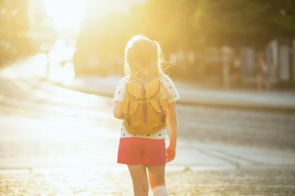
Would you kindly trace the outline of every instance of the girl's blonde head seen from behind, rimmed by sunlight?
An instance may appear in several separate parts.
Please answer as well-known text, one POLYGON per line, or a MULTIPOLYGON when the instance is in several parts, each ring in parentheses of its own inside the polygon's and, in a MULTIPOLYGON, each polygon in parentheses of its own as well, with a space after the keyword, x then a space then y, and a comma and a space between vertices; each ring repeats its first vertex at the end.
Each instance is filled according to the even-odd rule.
POLYGON ((142 35, 128 41, 125 48, 125 75, 138 81, 148 81, 162 73, 162 54, 159 44, 142 35))

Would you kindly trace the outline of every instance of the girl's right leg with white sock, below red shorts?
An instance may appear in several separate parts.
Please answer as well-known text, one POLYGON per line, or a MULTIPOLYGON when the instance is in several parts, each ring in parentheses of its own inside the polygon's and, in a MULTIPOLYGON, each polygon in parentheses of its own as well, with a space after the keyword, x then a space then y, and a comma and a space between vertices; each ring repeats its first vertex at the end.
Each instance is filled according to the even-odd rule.
POLYGON ((165 186, 165 165, 148 166, 148 179, 153 196, 168 196, 165 186))

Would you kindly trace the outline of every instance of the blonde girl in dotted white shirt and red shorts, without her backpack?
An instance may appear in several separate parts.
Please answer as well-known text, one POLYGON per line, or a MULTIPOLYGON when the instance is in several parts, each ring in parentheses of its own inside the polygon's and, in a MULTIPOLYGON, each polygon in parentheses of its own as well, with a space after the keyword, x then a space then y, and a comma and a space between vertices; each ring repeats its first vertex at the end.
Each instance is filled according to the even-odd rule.
POLYGON ((178 131, 176 101, 179 95, 172 80, 163 73, 159 44, 147 37, 137 35, 128 41, 125 48, 124 70, 126 76, 120 80, 114 97, 115 118, 125 119, 122 106, 127 82, 145 83, 159 79, 161 95, 168 103, 167 122, 170 143, 166 149, 165 139, 168 139, 166 127, 151 134, 130 134, 122 121, 118 163, 128 166, 135 196, 148 196, 148 182, 153 196, 168 196, 165 165, 175 159, 178 131))

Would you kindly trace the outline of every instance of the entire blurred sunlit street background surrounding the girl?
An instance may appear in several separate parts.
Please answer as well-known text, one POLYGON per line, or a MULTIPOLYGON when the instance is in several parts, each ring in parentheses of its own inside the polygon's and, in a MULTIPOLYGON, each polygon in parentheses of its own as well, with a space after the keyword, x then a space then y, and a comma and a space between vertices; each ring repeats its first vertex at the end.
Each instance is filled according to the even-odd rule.
POLYGON ((0 0, 0 196, 132 195, 112 99, 136 34, 180 95, 171 195, 294 196, 295 0, 0 0))

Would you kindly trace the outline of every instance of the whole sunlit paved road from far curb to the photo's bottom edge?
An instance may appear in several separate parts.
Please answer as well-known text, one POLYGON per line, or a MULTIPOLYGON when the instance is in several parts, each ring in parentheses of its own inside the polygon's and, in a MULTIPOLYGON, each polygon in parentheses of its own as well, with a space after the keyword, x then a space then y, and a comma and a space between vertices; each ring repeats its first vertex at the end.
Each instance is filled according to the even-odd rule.
MULTIPOLYGON (((2 75, 0 196, 130 195, 126 168, 116 164, 112 107, 111 98, 2 75)), ((177 110, 177 158, 167 167, 172 195, 295 194, 295 114, 177 110)))

